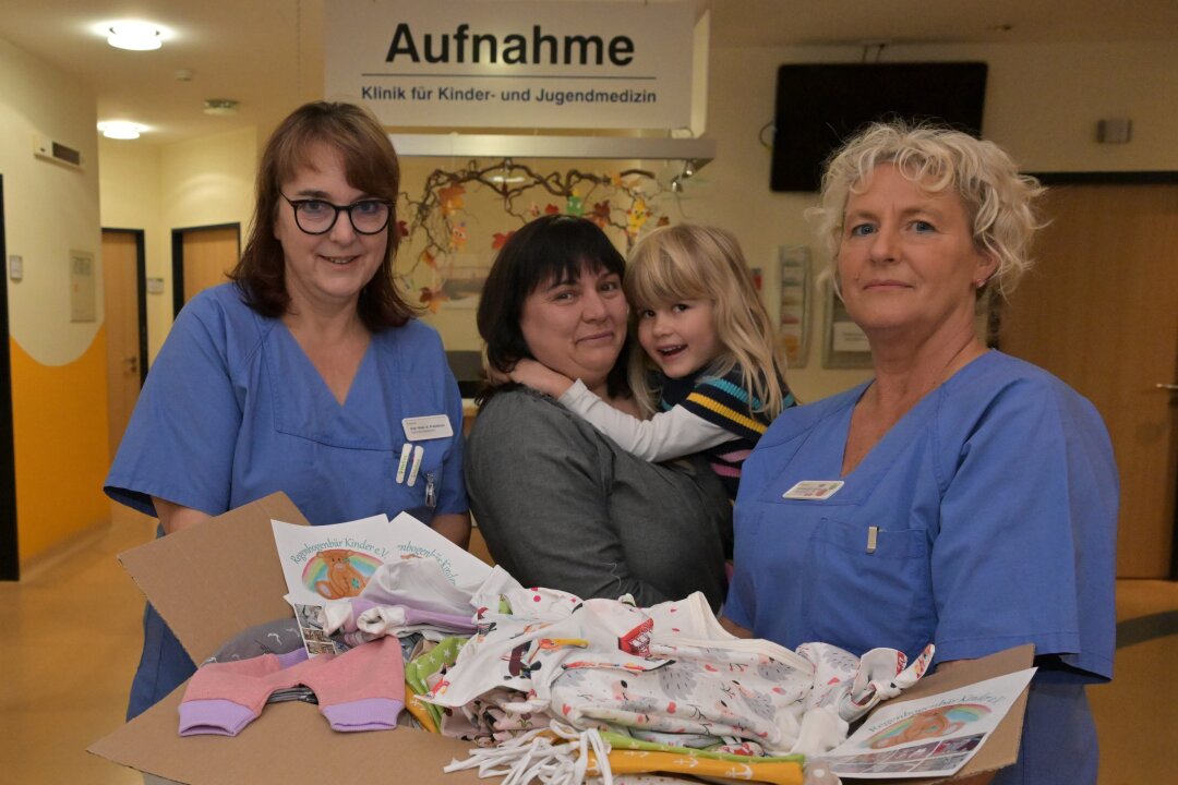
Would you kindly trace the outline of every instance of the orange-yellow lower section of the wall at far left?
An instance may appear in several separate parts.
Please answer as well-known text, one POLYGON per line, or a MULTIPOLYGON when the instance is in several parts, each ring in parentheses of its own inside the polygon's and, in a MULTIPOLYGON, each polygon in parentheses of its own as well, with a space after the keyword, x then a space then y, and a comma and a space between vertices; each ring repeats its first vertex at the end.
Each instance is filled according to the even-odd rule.
POLYGON ((106 330, 66 365, 41 365, 9 344, 16 538, 26 565, 110 521, 106 330))

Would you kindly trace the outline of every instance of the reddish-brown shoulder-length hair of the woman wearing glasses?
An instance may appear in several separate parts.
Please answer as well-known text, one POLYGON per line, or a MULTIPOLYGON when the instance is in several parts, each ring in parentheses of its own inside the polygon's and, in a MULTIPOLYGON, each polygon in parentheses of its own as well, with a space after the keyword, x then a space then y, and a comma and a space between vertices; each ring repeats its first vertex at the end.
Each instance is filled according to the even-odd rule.
POLYGON ((310 165, 317 145, 337 151, 344 162, 348 182, 370 197, 389 201, 391 214, 385 229, 388 247, 380 267, 360 290, 357 312, 371 332, 399 327, 415 310, 397 292, 392 259, 397 253, 397 193, 401 166, 392 142, 379 121, 353 104, 313 101, 294 109, 266 142, 258 165, 253 222, 241 260, 230 272, 245 304, 264 317, 276 319, 290 307, 283 246, 274 237, 284 180, 310 165))

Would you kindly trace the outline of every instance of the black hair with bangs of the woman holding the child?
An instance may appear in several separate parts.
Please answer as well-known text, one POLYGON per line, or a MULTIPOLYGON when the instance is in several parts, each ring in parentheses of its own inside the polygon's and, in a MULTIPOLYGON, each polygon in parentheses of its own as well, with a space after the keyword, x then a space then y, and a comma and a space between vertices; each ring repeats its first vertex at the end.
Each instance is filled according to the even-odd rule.
MULTIPOLYGON (((573 215, 544 215, 517 229, 495 258, 478 300, 478 334, 487 342, 487 362, 507 373, 524 358, 535 359, 524 340, 519 320, 523 304, 542 284, 577 280, 582 272, 602 270, 626 273, 626 259, 593 221, 573 215)), ((630 351, 627 335, 622 352, 607 377, 610 395, 628 395, 626 362, 630 351)), ((485 387, 485 403, 495 387, 485 387)))

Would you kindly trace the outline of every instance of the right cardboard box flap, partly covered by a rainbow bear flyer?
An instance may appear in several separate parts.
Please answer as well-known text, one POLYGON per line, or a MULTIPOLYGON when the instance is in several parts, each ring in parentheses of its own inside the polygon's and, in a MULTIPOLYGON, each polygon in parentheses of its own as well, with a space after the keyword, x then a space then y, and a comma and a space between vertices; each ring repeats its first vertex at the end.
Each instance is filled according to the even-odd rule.
MULTIPOLYGON (((1034 646, 1015 646, 1000 651, 990 657, 962 663, 958 667, 939 673, 931 673, 906 690, 902 696, 887 701, 886 706, 916 698, 928 698, 939 692, 948 692, 958 687, 965 687, 977 681, 985 681, 1007 673, 1025 671, 1034 664, 1034 646)), ((937 783, 953 781, 973 774, 994 771, 1004 766, 1010 766, 1019 759, 1019 740, 1023 738, 1023 713, 1026 711, 1027 691, 1024 690, 1018 700, 1006 712, 1006 717, 998 724, 994 732, 990 734, 986 743, 978 749, 978 752, 969 759, 961 771, 949 778, 931 779, 928 777, 911 777, 904 779, 861 779, 843 777, 843 783, 871 783, 872 785, 935 785, 937 783)))

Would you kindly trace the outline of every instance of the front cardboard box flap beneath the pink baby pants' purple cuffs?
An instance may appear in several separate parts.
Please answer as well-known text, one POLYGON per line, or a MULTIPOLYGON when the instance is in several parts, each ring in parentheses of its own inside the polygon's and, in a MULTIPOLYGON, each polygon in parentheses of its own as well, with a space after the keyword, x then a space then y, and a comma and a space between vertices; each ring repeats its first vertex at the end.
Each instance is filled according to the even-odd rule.
MULTIPOLYGON (((171 535, 168 535, 171 537, 171 535)), ((187 683, 88 752, 141 772, 193 785, 241 783, 390 781, 475 785, 475 770, 446 774, 474 745, 412 727, 339 733, 318 706, 266 705, 237 737, 179 736, 178 707, 187 683)), ((496 780, 497 781, 497 780, 496 780)))

